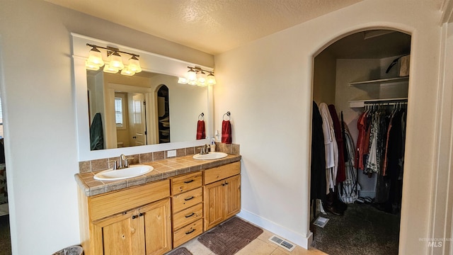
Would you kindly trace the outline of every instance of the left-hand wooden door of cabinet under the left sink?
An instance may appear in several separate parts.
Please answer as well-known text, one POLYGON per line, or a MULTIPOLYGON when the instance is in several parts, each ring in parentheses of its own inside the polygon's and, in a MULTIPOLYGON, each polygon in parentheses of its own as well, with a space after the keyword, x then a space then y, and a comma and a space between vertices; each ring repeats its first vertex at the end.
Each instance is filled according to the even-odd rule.
POLYGON ((93 238, 98 240, 95 254, 144 254, 144 249, 139 245, 143 242, 143 227, 137 210, 94 222, 93 227, 96 235, 93 238))

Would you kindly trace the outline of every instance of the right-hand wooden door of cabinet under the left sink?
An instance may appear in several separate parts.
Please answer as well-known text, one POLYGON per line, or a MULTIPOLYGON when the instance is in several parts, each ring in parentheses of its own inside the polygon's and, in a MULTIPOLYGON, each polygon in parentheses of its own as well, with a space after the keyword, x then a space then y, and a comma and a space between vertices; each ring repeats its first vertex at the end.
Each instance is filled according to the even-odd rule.
POLYGON ((140 254, 165 254, 171 250, 170 198, 139 208, 144 224, 144 249, 140 254))

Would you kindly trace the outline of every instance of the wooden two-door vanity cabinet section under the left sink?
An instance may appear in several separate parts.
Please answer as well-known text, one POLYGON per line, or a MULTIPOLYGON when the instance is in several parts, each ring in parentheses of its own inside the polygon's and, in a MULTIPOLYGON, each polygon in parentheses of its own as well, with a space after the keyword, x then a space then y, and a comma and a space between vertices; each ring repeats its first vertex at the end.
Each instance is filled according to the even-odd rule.
POLYGON ((164 254, 171 246, 168 180, 86 197, 79 191, 86 255, 164 254))

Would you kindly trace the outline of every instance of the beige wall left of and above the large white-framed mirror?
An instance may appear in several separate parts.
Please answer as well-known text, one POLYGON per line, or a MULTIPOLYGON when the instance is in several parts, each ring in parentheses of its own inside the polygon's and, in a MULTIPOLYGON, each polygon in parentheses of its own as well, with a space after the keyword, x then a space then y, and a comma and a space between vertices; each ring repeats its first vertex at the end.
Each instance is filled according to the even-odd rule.
POLYGON ((205 66, 214 62, 204 52, 45 1, 1 1, 0 89, 13 254, 52 254, 80 242, 71 32, 205 66))

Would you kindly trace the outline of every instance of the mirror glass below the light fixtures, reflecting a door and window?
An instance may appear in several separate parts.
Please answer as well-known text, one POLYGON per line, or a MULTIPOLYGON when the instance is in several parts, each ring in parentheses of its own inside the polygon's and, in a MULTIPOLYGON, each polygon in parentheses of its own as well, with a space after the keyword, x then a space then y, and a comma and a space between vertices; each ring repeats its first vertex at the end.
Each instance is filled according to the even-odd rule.
POLYGON ((91 133, 98 135, 91 135, 91 150, 195 140, 207 113, 207 87, 178 84, 178 77, 100 69, 86 78, 91 133))

